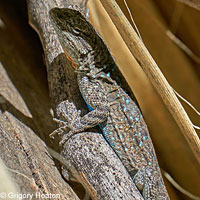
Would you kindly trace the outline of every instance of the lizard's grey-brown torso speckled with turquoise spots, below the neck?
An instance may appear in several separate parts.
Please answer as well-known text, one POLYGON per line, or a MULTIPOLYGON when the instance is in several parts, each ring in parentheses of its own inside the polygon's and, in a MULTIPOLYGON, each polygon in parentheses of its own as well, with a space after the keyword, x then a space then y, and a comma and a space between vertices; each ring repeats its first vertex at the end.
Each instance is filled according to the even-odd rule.
MULTIPOLYGON (((123 162, 145 200, 169 199, 138 106, 109 74, 101 71, 98 77, 93 78, 89 73, 78 74, 80 91, 92 110, 84 116, 88 120, 86 126, 89 127, 90 121, 93 124, 96 119, 97 124, 101 121, 99 126, 104 137, 123 162), (104 111, 105 115, 101 113, 98 118, 98 110, 104 111), (95 114, 91 115, 94 111, 95 114)), ((84 120, 84 123, 87 122, 84 120)))

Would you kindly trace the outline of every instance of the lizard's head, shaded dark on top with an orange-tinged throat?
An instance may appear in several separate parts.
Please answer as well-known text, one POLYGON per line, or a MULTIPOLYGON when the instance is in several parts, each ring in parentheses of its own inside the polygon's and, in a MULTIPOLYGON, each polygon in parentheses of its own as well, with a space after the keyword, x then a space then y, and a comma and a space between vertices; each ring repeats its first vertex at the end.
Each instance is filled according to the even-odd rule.
POLYGON ((65 54, 80 66, 92 50, 92 25, 79 11, 69 8, 53 8, 49 15, 65 54))

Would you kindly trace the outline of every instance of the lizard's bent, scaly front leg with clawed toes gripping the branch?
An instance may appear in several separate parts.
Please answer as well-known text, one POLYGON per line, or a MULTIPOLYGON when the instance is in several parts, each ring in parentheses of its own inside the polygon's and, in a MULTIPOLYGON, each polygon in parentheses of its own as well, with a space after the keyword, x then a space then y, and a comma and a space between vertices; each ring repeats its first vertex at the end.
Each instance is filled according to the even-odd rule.
POLYGON ((77 117, 73 120, 73 125, 69 126, 63 122, 61 123, 63 124, 63 126, 60 127, 62 132, 65 130, 68 131, 69 128, 71 128, 71 130, 63 136, 60 145, 65 143, 75 133, 83 132, 88 128, 104 122, 109 114, 109 104, 107 102, 107 93, 104 91, 104 86, 92 82, 89 77, 82 73, 78 73, 78 83, 81 94, 91 112, 83 117, 77 117))

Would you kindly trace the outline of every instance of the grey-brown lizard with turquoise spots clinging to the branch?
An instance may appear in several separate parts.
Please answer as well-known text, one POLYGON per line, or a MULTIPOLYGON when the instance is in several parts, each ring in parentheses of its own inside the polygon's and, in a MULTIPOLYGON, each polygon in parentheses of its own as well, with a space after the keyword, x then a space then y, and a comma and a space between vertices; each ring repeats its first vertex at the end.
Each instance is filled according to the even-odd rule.
POLYGON ((90 110, 73 127, 54 119, 63 126, 50 136, 70 128, 60 142, 63 144, 73 134, 99 125, 143 198, 168 200, 147 125, 133 98, 114 76, 118 67, 103 39, 78 9, 53 8, 49 15, 90 110))

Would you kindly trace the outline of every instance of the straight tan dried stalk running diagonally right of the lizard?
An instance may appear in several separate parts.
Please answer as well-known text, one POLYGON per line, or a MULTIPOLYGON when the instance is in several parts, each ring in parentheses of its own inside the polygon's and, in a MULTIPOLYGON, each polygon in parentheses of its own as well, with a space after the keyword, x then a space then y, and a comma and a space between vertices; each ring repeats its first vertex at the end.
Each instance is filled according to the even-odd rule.
POLYGON ((194 155, 196 156, 196 159, 200 163, 200 142, 198 135, 195 132, 187 113, 174 94, 173 89, 116 2, 112 0, 101 0, 101 3, 117 27, 130 52, 138 61, 174 117, 194 155))

